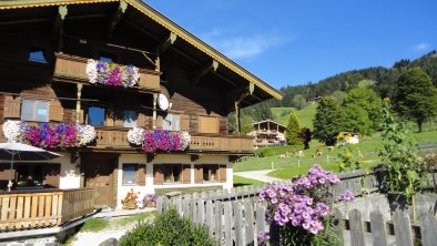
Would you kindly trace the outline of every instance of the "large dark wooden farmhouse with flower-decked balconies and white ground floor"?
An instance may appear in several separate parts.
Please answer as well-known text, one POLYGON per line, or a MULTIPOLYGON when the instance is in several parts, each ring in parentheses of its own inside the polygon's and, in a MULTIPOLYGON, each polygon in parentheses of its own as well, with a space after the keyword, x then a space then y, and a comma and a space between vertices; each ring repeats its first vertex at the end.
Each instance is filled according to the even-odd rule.
POLYGON ((120 208, 131 189, 231 188, 253 137, 226 115, 282 99, 140 0, 1 1, 0 54, 1 142, 62 155, 1 161, 0 230, 120 208))

